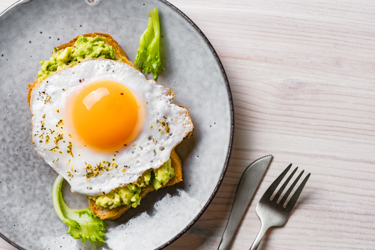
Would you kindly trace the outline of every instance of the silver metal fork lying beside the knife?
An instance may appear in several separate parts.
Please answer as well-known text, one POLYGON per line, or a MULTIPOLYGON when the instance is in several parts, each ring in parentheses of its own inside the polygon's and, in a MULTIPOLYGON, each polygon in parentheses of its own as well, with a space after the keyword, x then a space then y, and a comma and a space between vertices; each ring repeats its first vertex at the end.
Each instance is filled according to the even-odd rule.
POLYGON ((257 235, 257 237, 254 240, 254 243, 251 245, 250 250, 256 250, 258 249, 264 234, 266 233, 267 229, 273 226, 282 226, 287 222, 288 217, 290 215, 290 212, 292 211, 294 205, 297 202, 298 197, 300 196, 303 187, 305 187, 305 184, 307 180, 310 177, 310 173, 305 177, 305 179, 302 181, 300 186, 297 188, 296 192, 294 192, 292 198, 288 201, 287 205, 284 207, 285 201, 287 201, 288 196, 292 192, 294 186, 296 186, 297 182, 301 178, 303 172, 305 170, 302 170, 302 172, 298 175, 297 179, 293 182, 293 184, 290 186, 288 191, 285 193, 285 195, 282 197, 281 201, 277 203, 281 193, 284 191, 285 187, 288 185, 289 181, 293 177, 293 175, 296 173, 298 167, 293 170, 293 172, 289 175, 288 179, 282 184, 279 191, 276 193, 275 197, 271 200, 271 196, 273 192, 275 192, 278 185, 281 183, 282 179, 285 177, 289 169, 292 167, 292 164, 290 164, 282 173, 279 175, 278 178, 271 184, 271 186, 266 190, 260 201, 258 202, 257 207, 255 208, 255 212, 257 212, 257 215, 261 221, 261 229, 257 235))

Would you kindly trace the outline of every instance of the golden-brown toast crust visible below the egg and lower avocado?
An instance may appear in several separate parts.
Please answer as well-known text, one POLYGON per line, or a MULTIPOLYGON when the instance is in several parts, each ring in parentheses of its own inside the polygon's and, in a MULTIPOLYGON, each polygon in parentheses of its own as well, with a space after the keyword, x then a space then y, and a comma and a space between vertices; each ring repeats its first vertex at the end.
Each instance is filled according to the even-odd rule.
MULTIPOLYGON (((182 168, 181 168, 181 160, 174 151, 174 149, 171 151, 171 165, 174 169, 175 176, 169 180, 165 185, 162 185, 162 187, 171 186, 173 184, 176 184, 180 181, 182 181, 182 168)), ((148 192, 154 191, 154 187, 150 183, 145 187, 144 190, 139 194, 142 198, 144 198, 148 192)), ((131 206, 122 205, 115 208, 104 208, 104 207, 98 207, 95 204, 95 201, 93 199, 89 199, 89 205, 91 208, 91 211, 93 211, 93 214, 98 216, 100 219, 104 220, 114 220, 120 217, 123 213, 125 213, 131 206)))

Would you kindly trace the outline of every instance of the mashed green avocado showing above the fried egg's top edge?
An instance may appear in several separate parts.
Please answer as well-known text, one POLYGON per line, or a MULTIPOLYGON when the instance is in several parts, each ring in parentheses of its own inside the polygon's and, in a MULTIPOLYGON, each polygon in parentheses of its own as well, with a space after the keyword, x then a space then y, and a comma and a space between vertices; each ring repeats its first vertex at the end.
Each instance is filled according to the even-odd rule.
POLYGON ((62 67, 90 57, 102 57, 122 61, 121 58, 115 55, 115 50, 112 46, 105 44, 105 42, 107 42, 107 38, 102 36, 79 36, 74 43, 74 47, 67 47, 60 50, 57 50, 55 47, 48 61, 39 62, 41 67, 38 71, 38 76, 44 78, 62 67))

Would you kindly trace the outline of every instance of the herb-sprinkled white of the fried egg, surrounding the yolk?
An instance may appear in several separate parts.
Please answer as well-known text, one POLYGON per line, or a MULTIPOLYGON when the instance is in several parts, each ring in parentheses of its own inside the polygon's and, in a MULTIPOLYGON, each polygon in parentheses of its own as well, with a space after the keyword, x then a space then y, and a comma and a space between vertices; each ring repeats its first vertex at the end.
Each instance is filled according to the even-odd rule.
MULTIPOLYGON (((72 192, 90 196, 108 193, 116 187, 137 181, 148 169, 159 168, 169 159, 172 149, 193 130, 189 112, 171 104, 173 97, 171 89, 147 80, 126 63, 102 58, 83 60, 52 73, 32 89, 33 146, 46 163, 69 182, 72 192), (78 135, 72 122, 75 98, 84 87, 100 80, 123 84, 139 103, 138 112, 144 119, 137 123, 140 130, 126 147, 90 147, 78 135), (166 125, 160 122, 168 123, 169 133, 165 131, 166 125), (55 140, 59 134, 63 139, 58 141, 56 148, 55 140), (68 152, 69 142, 72 144, 71 153, 68 152), (99 171, 96 177, 87 181, 86 164, 95 168, 102 161, 110 162, 111 166, 115 163, 117 168, 99 171)), ((115 123, 116 118, 103 120, 103 126, 108 122, 115 123)))

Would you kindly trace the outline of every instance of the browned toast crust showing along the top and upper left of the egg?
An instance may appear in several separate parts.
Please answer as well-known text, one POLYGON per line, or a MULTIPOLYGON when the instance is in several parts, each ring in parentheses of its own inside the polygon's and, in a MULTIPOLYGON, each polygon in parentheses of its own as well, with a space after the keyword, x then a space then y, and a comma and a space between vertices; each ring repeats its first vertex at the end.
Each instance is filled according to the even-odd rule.
MULTIPOLYGON (((134 63, 132 63, 131 61, 129 61, 127 59, 125 51, 123 51, 123 49, 121 49, 121 47, 118 46, 118 43, 109 34, 105 34, 105 33, 89 33, 89 34, 84 34, 82 36, 84 36, 84 37, 96 37, 96 36, 106 37, 107 38, 107 42, 105 42, 105 43, 108 44, 108 45, 111 45, 114 48, 115 54, 117 55, 117 57, 120 57, 124 61, 124 63, 129 64, 130 66, 132 66, 136 70, 139 70, 137 67, 134 66, 134 63)), ((77 42, 78 37, 79 36, 77 36, 76 38, 74 38, 73 40, 71 40, 68 43, 62 44, 61 46, 57 47, 57 49, 60 50, 60 49, 65 49, 66 47, 72 47, 72 46, 74 46, 74 43, 77 42)), ((32 85, 28 84, 27 103, 28 103, 29 106, 30 106, 30 94, 31 94, 31 90, 33 89, 33 87, 35 86, 35 84, 38 82, 38 78, 39 77, 36 78, 36 80, 34 81, 34 83, 32 85)))

